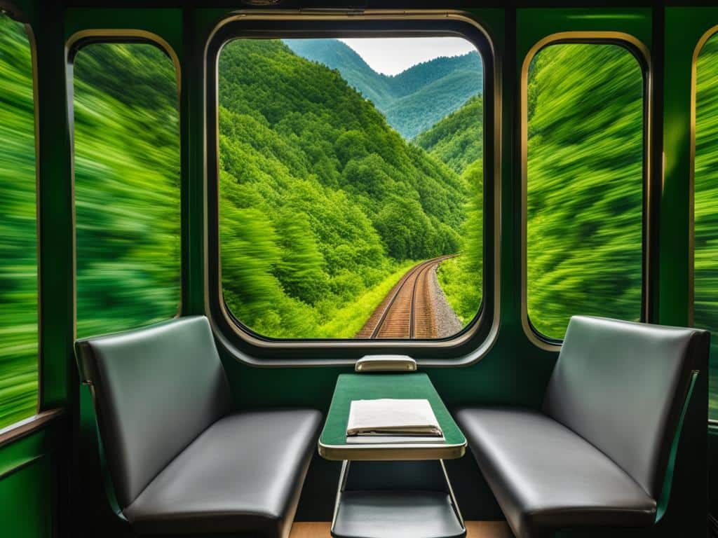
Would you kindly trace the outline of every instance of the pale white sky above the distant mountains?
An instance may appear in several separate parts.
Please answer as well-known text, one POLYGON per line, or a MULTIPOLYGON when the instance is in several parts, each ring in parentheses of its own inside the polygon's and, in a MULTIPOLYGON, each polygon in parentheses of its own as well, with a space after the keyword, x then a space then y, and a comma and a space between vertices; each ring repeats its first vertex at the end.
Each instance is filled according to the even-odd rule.
POLYGON ((461 37, 365 37, 340 39, 369 66, 384 75, 397 75, 412 65, 439 56, 460 56, 476 48, 461 37))

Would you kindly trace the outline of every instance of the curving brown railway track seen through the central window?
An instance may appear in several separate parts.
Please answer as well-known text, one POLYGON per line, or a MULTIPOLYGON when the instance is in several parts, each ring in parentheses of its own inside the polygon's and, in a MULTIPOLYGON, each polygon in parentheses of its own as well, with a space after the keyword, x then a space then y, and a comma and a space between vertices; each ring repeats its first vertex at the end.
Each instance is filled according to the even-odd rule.
POLYGON ((455 255, 439 256, 414 265, 391 288, 357 333, 360 339, 435 338, 432 270, 455 255))

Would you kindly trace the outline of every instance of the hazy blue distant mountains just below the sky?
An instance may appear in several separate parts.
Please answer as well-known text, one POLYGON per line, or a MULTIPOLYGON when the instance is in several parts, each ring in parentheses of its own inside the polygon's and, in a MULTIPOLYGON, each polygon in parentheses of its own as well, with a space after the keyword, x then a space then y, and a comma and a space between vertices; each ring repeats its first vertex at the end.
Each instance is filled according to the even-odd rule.
POLYGON ((374 71, 338 39, 285 39, 284 43, 307 60, 339 70, 349 85, 370 99, 389 125, 407 139, 482 92, 478 52, 434 58, 389 76, 374 71))

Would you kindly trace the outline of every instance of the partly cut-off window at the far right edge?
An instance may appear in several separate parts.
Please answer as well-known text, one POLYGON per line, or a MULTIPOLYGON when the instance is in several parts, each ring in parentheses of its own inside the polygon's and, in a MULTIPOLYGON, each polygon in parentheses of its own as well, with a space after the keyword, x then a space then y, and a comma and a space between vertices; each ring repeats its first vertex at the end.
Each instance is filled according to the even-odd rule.
POLYGON ((712 331, 709 418, 718 419, 718 37, 696 65, 694 324, 712 331))

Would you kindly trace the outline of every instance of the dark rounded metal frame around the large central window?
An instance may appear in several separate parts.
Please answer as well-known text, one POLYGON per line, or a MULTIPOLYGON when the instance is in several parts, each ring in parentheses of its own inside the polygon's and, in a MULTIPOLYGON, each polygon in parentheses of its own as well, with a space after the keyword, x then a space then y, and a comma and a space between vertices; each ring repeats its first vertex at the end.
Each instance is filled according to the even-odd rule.
POLYGON ((421 365, 472 364, 493 346, 498 333, 498 195, 500 98, 496 55, 485 27, 462 11, 348 12, 240 11, 218 23, 205 47, 205 309, 223 348, 238 361, 261 366, 354 364, 367 354, 411 354, 421 365), (234 39, 280 37, 452 36, 472 43, 484 67, 484 271, 482 305, 459 334, 448 339, 272 339, 237 320, 223 298, 219 245, 218 64, 234 39), (400 351, 401 350, 401 351, 400 351), (337 354, 337 351, 340 351, 337 354), (337 359, 337 355, 342 357, 337 359))

